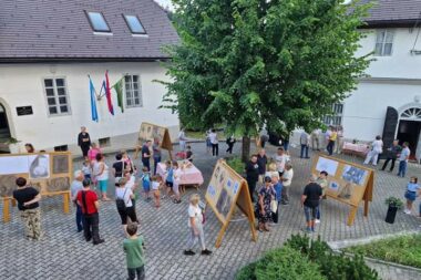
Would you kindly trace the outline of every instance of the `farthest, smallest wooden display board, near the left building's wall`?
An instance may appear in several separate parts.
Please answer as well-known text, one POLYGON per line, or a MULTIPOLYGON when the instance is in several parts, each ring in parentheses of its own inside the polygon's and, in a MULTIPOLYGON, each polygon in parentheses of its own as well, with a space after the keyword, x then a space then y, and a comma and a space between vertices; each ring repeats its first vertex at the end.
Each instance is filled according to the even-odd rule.
POLYGON ((171 142, 168 128, 151 123, 141 124, 136 143, 135 158, 137 157, 138 151, 142 148, 142 145, 146 141, 154 142, 154 139, 156 138, 160 139, 161 147, 163 149, 168 151, 170 158, 173 159, 173 155, 171 153, 171 151, 173 151, 173 143, 171 142))

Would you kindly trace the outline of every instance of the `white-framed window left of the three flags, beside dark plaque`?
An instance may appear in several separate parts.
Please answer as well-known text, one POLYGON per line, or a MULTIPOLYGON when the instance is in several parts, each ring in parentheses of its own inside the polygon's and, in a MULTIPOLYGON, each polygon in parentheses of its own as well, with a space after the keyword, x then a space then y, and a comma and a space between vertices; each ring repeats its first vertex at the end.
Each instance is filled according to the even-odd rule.
POLYGON ((64 77, 44 79, 49 115, 69 115, 70 102, 64 77))

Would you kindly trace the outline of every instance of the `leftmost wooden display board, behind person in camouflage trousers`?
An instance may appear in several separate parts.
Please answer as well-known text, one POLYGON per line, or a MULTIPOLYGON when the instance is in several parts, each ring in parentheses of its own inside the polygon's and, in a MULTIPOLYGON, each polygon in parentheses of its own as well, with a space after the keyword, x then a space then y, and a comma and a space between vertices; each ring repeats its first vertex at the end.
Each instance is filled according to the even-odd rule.
POLYGON ((0 155, 0 197, 3 220, 9 221, 9 200, 17 188, 16 179, 24 177, 43 196, 63 195, 64 212, 69 211, 72 157, 69 152, 0 155))

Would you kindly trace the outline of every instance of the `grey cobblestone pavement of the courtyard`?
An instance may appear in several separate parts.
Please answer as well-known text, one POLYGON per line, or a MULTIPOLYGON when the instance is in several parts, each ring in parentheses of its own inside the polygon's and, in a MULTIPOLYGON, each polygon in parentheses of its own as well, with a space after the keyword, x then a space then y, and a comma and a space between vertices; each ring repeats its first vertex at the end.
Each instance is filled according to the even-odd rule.
MULTIPOLYGON (((225 144, 220 143, 220 151, 224 151, 224 147, 225 144)), ((235 147, 237 154, 239 148, 240 144, 237 144, 235 147)), ((274 154, 276 151, 271 146, 267 149, 268 154, 274 154)), ((216 158, 206 154, 203 143, 193 144, 193 151, 194 163, 205 177, 205 184, 201 189, 204 194, 216 158)), ((291 204, 281 207, 280 225, 274 227, 270 232, 259 234, 257 242, 250 240, 248 225, 245 220, 240 220, 228 226, 222 247, 215 249, 214 243, 220 224, 208 211, 205 234, 208 247, 214 253, 208 257, 199 255, 186 257, 182 252, 187 239, 187 196, 195 190, 188 189, 181 205, 164 199, 158 210, 153 208, 152 203, 137 200, 136 209, 147 247, 147 279, 233 279, 242 266, 256 260, 268 249, 281 246, 290 235, 300 232, 305 217, 299 197, 308 179, 311 160, 297 158, 297 151, 292 151, 291 154, 295 169, 291 204)), ((224 152, 222 156, 225 156, 224 152)), ((348 156, 346 158, 361 163, 359 158, 348 156)), ((107 156, 110 164, 112 159, 112 155, 107 156)), ((79 160, 74 162, 74 167, 80 167, 79 160)), ((419 173, 419 166, 409 168, 409 175, 419 173)), ((370 204, 369 217, 362 216, 361 206, 352 227, 346 226, 349 210, 347 206, 325 200, 321 206, 322 221, 317 228, 317 234, 324 240, 342 240, 418 229, 421 219, 403 212, 398 214, 394 225, 384 222, 387 211, 384 198, 390 195, 402 197, 405 183, 407 179, 398 178, 394 174, 377 172, 374 198, 370 204)), ((110 183, 110 196, 114 191, 110 183)), ((114 203, 101 205, 100 232, 105 238, 105 243, 100 246, 86 243, 82 235, 76 232, 74 209, 71 215, 64 215, 61 198, 44 198, 41 208, 42 226, 47 234, 42 241, 23 239, 17 208, 12 210, 11 222, 0 224, 0 279, 126 278, 125 257, 122 250, 123 232, 114 203)), ((383 277, 388 276, 386 279, 420 279, 411 274, 393 274, 386 270, 383 272, 383 277)))

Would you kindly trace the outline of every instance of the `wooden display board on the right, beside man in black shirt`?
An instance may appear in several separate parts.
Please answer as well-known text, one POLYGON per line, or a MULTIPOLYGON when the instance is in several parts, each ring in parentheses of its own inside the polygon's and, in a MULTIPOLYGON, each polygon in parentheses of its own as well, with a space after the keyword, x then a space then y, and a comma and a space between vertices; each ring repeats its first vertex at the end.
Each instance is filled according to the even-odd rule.
POLYGON ((369 201, 372 201, 373 170, 338 158, 318 155, 312 163, 311 173, 319 175, 322 170, 328 173, 326 196, 351 206, 348 226, 353 224, 358 206, 362 200, 364 201, 364 216, 367 217, 369 201))

